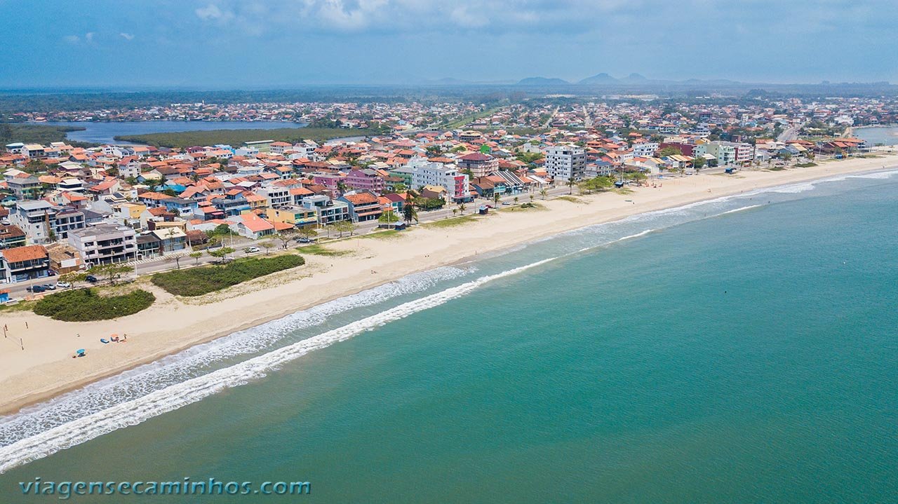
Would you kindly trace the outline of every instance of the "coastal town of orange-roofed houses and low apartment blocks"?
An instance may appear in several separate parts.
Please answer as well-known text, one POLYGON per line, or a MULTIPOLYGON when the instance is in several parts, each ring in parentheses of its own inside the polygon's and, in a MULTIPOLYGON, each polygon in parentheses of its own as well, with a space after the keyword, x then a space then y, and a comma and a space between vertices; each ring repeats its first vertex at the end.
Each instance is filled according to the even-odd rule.
POLYGON ((279 120, 326 123, 348 135, 377 126, 384 134, 291 143, 256 130, 258 140, 186 148, 6 143, 0 300, 83 280, 73 274, 96 282, 91 272, 104 265, 158 272, 180 268, 185 256, 196 265, 231 260, 271 248, 272 239, 286 248, 288 239, 401 230, 575 189, 863 156, 876 146, 852 137, 850 128, 894 117, 879 100, 662 106, 645 97, 492 108, 198 103, 22 112, 12 118, 279 120), (450 122, 457 127, 446 128, 450 122))

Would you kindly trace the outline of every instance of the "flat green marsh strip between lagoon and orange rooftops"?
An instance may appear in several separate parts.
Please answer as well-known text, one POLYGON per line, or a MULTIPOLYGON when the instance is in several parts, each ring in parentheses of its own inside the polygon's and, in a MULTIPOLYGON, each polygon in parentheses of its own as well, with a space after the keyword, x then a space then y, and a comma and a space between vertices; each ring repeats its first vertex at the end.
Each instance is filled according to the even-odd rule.
POLYGON ((175 133, 148 133, 145 135, 121 135, 116 140, 146 143, 156 147, 189 147, 192 145, 239 146, 255 140, 275 140, 277 142, 299 142, 314 140, 324 142, 343 136, 380 135, 374 129, 343 129, 337 127, 284 127, 277 129, 214 129, 209 131, 183 131, 175 133))

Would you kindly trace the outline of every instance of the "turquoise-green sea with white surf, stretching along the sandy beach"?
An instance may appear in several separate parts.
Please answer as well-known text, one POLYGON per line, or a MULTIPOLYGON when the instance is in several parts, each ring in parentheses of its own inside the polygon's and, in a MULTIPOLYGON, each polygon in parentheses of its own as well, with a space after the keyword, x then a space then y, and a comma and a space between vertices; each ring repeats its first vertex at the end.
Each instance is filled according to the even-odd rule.
POLYGON ((0 499, 55 500, 22 497, 38 476, 313 484, 81 502, 898 499, 898 176, 643 215, 369 294, 4 419, 0 464, 36 460, 0 499))

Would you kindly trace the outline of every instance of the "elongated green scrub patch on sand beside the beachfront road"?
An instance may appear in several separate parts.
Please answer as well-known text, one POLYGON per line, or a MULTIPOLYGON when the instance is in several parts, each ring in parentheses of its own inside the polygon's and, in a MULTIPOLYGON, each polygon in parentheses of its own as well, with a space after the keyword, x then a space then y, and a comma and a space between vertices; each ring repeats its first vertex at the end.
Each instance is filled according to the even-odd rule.
POLYGON ((301 256, 243 257, 225 265, 199 266, 154 274, 152 282, 177 296, 202 296, 260 276, 305 264, 301 256))

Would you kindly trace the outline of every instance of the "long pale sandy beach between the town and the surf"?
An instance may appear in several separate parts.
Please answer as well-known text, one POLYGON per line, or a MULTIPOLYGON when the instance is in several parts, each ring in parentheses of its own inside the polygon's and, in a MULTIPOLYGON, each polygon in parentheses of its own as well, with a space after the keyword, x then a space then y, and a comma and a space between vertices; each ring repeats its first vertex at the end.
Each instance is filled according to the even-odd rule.
MULTIPOLYGON (((11 337, 0 347, 0 412, 13 413, 191 345, 471 256, 635 213, 894 164, 892 157, 882 157, 823 162, 804 169, 745 170, 734 176, 665 178, 663 187, 634 187, 626 196, 577 196, 581 201, 576 203, 541 201, 536 196, 534 201, 544 209, 497 212, 453 227, 418 226, 389 239, 342 240, 327 247, 347 251, 346 255, 305 256, 307 264, 300 268, 198 299, 181 300, 145 287, 154 291, 157 300, 153 307, 130 317, 67 323, 28 312, 4 312, 0 323, 11 337), (113 333, 127 334, 128 343, 100 342, 113 333), (86 349, 87 357, 73 359, 79 348, 86 349)), ((523 196, 521 201, 529 198, 523 196)))

